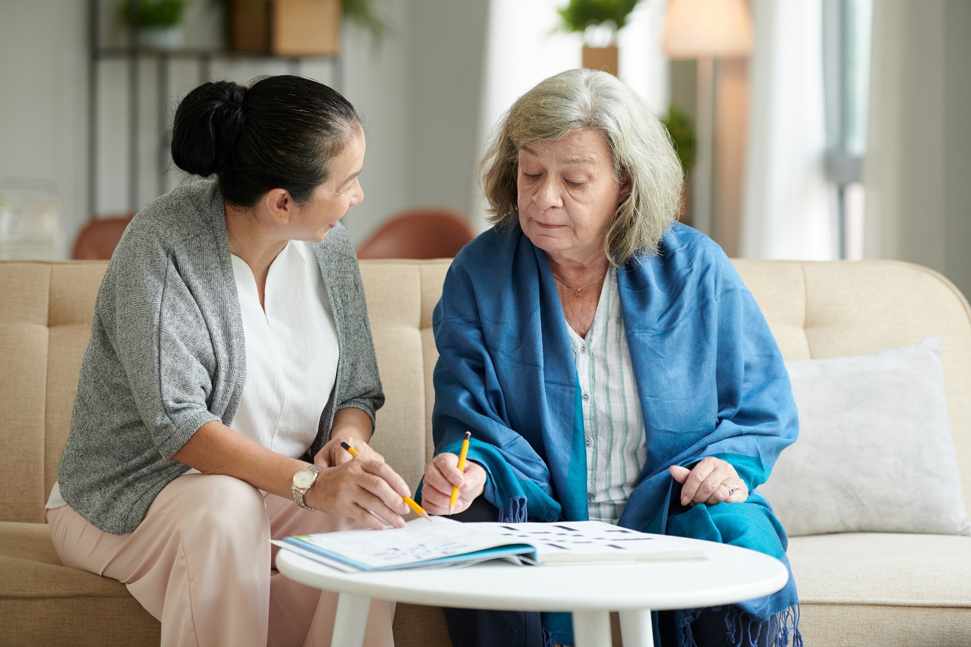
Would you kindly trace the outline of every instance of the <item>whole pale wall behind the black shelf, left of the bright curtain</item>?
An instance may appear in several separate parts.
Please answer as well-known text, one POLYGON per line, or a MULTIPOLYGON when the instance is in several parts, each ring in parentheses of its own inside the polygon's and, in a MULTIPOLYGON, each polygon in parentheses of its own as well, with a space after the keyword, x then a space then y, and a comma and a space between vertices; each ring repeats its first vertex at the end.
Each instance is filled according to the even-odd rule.
MULTIPOLYGON (((103 42, 123 44, 117 2, 103 0, 103 42)), ((364 202, 345 217, 361 241, 388 215, 414 206, 468 209, 478 157, 486 2, 388 0, 394 33, 383 47, 345 28, 342 92, 363 115, 368 151, 361 183, 364 202)), ((221 42, 215 3, 190 6, 186 47, 221 42)), ((88 217, 87 13, 81 0, 0 0, 0 178, 46 178, 61 200, 66 256, 88 217)), ((123 60, 99 64, 97 214, 129 210, 127 75, 123 60)), ((212 79, 249 81, 290 71, 281 61, 215 59, 212 79)), ((333 83, 327 60, 305 60, 298 73, 333 83)), ((139 193, 142 205, 158 194, 159 95, 157 66, 139 68, 139 193)), ((199 66, 173 61, 164 110, 201 81, 199 66)), ((168 187, 181 181, 172 167, 168 187)))

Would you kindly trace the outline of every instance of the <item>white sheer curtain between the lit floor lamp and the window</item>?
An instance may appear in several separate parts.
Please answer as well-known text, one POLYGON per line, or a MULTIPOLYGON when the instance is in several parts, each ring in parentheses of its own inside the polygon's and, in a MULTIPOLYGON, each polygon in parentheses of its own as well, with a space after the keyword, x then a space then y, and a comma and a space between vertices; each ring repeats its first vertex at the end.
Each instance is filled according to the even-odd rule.
POLYGON ((752 10, 740 255, 832 259, 820 0, 753 0, 752 10))

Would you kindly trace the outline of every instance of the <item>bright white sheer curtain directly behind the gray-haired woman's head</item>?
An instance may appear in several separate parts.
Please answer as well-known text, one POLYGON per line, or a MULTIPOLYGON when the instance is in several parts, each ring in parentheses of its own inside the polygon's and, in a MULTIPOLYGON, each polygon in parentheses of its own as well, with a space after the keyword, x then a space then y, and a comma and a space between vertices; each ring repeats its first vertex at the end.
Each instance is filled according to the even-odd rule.
MULTIPOLYGON (((583 38, 556 30, 564 0, 490 0, 485 37, 483 105, 479 151, 503 113, 519 96, 547 77, 580 67, 583 38)), ((654 113, 667 112, 667 60, 660 49, 667 0, 641 2, 619 32, 620 79, 641 93, 654 113)), ((477 161, 478 159, 477 158, 477 161)), ((478 189, 469 212, 485 230, 485 202, 478 189)))

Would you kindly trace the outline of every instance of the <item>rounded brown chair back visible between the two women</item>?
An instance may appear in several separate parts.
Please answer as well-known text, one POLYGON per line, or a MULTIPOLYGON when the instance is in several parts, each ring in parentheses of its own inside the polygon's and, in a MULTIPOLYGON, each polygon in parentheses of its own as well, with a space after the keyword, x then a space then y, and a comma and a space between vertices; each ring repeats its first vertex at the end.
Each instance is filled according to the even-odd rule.
POLYGON ((452 258, 475 238, 468 219, 447 209, 413 209, 385 220, 357 258, 452 258))

